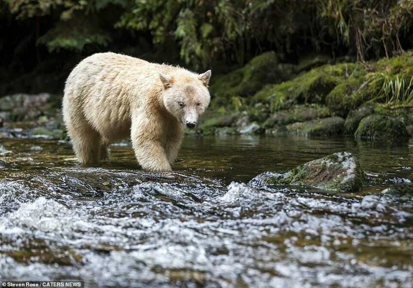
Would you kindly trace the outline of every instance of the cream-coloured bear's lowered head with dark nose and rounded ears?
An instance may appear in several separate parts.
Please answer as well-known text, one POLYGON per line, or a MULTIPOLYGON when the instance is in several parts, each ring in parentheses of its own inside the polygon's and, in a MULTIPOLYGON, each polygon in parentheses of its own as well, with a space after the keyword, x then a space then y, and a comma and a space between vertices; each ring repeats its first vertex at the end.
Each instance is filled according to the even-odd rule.
POLYGON ((184 70, 173 75, 159 73, 165 108, 185 127, 195 127, 198 116, 208 107, 210 77, 210 70, 199 75, 184 70))

